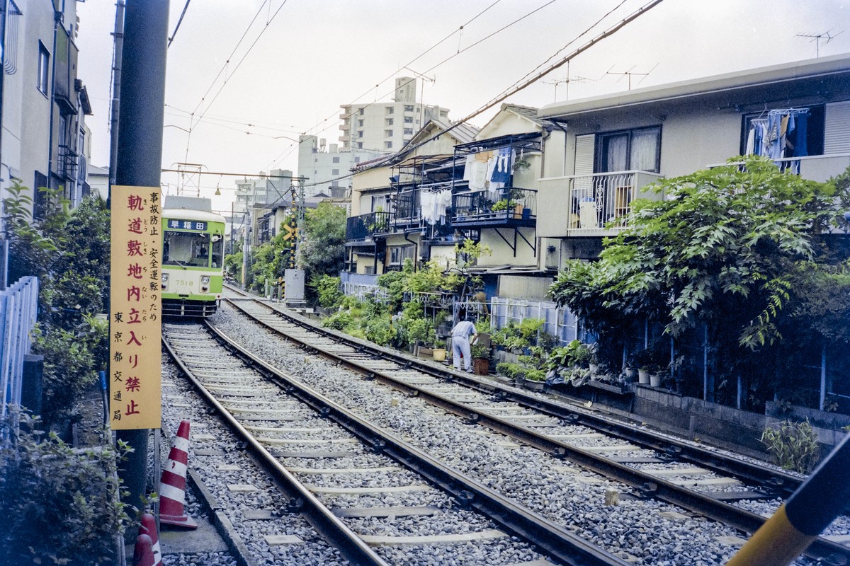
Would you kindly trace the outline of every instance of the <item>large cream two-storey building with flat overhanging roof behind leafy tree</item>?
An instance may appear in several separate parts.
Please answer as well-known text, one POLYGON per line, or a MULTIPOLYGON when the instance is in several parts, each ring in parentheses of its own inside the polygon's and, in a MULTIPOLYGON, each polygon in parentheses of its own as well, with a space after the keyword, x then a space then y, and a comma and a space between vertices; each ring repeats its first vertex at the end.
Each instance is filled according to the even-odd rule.
POLYGON ((563 159, 549 161, 540 179, 537 233, 558 240, 558 263, 591 259, 602 238, 627 226, 634 199, 663 198, 646 190, 661 178, 751 153, 813 181, 842 173, 850 165, 850 57, 549 104, 538 117, 565 135, 546 143, 547 155, 563 159), (774 132, 783 122, 787 130, 774 132))

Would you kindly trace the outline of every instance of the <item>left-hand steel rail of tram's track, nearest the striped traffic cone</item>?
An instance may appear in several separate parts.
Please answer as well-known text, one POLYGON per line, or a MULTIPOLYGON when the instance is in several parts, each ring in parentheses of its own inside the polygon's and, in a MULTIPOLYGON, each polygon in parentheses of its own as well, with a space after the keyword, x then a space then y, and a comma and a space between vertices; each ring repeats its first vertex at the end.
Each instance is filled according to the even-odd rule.
POLYGON ((349 529, 336 515, 321 504, 303 484, 292 475, 289 470, 284 468, 280 462, 266 450, 265 446, 260 444, 253 435, 248 432, 245 427, 231 415, 228 410, 210 394, 206 387, 201 384, 198 378, 191 372, 189 367, 186 367, 184 362, 179 358, 172 346, 168 343, 165 336, 162 337, 162 344, 165 346, 168 355, 177 365, 182 373, 195 386, 195 389, 207 401, 207 405, 211 406, 218 416, 232 429, 235 434, 243 440, 247 446, 250 446, 252 451, 260 458, 263 465, 269 468, 275 477, 283 484, 287 495, 290 496, 290 504, 287 509, 292 513, 302 513, 309 524, 312 524, 314 529, 319 531, 326 538, 326 541, 335 546, 343 557, 354 564, 374 565, 374 566, 389 566, 389 564, 377 552, 373 551, 359 536, 349 529))

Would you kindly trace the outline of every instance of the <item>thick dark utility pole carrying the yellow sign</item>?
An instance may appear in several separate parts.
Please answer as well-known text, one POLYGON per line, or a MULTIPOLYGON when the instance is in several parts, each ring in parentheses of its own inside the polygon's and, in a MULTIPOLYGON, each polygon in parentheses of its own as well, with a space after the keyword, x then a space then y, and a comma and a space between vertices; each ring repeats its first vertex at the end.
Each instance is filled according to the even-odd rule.
MULTIPOLYGON (((168 0, 127 0, 116 185, 160 187, 167 27, 168 0)), ((149 433, 116 431, 117 439, 133 448, 118 474, 127 488, 125 502, 135 507, 141 507, 144 496, 149 433)))

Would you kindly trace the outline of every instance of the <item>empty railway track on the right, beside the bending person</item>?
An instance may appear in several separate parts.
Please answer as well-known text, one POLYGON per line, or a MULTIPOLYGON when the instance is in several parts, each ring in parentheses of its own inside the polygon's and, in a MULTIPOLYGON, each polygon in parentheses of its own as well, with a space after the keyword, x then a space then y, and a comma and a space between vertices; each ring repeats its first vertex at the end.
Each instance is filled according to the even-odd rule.
MULTIPOLYGON (((344 364, 365 379, 376 380, 373 383, 390 384, 405 398, 428 401, 466 423, 474 423, 477 429, 484 425, 509 434, 558 458, 562 468, 599 474, 604 481, 615 480, 615 490, 623 498, 675 506, 677 511, 672 513, 677 513, 677 520, 702 516, 752 532, 764 518, 746 510, 751 507, 749 502, 768 498, 775 507, 800 482, 790 474, 587 414, 543 395, 471 378, 314 328, 301 317, 274 312, 262 303, 231 302, 252 311, 256 320, 276 327, 276 332, 285 333, 287 339, 309 352, 344 364), (564 466, 564 461, 569 465, 564 466)), ((847 534, 842 528, 836 527, 837 541, 847 534)), ((817 541, 809 552, 815 558, 847 557, 846 546, 827 539, 817 541)))

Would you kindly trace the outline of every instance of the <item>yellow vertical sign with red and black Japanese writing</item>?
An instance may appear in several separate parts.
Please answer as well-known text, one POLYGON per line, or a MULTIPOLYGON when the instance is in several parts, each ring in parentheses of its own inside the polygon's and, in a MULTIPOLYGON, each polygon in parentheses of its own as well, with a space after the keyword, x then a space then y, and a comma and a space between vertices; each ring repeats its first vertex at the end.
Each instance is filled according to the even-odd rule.
POLYGON ((112 429, 161 425, 161 189, 111 189, 112 429))

